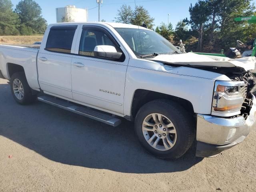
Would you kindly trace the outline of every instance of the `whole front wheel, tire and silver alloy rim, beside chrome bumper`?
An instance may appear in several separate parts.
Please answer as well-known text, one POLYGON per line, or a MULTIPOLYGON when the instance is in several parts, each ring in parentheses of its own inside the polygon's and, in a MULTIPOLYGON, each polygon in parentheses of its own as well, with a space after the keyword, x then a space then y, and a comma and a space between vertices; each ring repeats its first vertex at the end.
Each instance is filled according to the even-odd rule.
POLYGON ((154 100, 138 111, 135 131, 150 154, 176 159, 192 145, 195 128, 192 118, 180 105, 171 100, 154 100))

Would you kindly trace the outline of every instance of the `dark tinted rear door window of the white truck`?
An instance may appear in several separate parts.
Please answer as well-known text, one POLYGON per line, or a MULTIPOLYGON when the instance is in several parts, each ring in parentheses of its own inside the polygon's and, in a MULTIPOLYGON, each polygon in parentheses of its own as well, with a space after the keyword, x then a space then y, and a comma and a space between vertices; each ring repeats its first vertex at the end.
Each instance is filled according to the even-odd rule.
POLYGON ((72 42, 77 26, 53 26, 48 34, 46 50, 71 53, 72 42))

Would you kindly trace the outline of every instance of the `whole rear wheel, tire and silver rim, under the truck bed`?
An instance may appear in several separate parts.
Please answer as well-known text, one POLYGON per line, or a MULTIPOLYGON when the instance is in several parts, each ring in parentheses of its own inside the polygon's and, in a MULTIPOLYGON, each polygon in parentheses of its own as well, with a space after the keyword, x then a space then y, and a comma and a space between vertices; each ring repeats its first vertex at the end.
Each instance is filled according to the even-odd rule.
POLYGON ((18 104, 31 104, 36 100, 36 96, 32 94, 24 72, 14 73, 10 84, 12 96, 18 104))

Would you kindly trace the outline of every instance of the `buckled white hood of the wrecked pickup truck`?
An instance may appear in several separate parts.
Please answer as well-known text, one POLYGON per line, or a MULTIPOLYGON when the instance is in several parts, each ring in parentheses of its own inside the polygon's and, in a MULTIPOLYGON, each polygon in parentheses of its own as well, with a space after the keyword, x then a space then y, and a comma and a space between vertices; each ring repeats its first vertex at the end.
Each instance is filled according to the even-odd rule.
POLYGON ((192 52, 184 54, 158 55, 149 60, 162 62, 166 64, 177 64, 182 66, 213 66, 213 67, 238 67, 244 71, 255 68, 255 57, 244 57, 239 59, 230 59, 219 56, 199 55, 192 52))

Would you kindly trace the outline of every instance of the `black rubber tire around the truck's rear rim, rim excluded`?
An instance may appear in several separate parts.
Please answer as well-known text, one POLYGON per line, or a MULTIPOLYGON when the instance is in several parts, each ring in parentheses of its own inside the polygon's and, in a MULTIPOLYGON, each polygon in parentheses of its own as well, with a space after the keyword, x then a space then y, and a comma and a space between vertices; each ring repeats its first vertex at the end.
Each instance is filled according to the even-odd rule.
POLYGON ((36 100, 36 95, 32 94, 32 90, 31 90, 30 86, 28 85, 28 82, 27 82, 24 72, 14 73, 10 80, 10 85, 11 85, 12 96, 18 104, 21 104, 21 105, 32 104, 36 100), (14 94, 13 82, 15 79, 18 79, 22 83, 23 90, 24 90, 24 96, 22 99, 18 99, 14 94))

